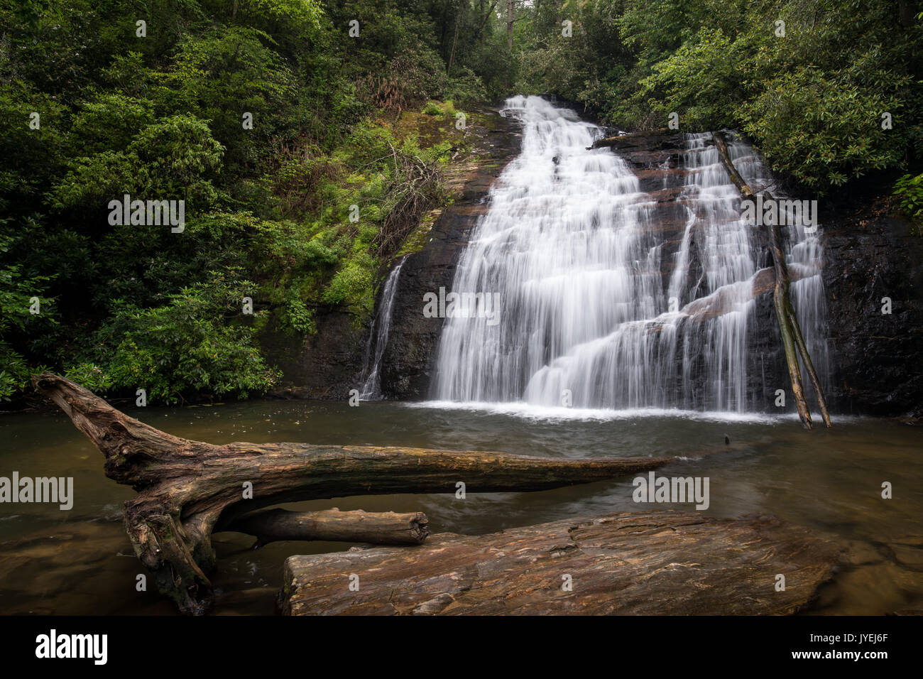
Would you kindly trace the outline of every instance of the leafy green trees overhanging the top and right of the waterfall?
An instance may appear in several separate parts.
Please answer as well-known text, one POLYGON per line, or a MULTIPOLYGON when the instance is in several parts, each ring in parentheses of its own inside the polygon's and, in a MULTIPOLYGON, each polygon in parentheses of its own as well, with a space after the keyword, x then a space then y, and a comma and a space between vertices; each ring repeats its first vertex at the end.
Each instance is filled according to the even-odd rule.
POLYGON ((820 195, 923 152, 923 24, 856 0, 585 0, 521 8, 517 88, 621 129, 737 127, 820 195), (560 22, 573 21, 561 39, 560 22), (893 127, 882 129, 882 114, 893 127))

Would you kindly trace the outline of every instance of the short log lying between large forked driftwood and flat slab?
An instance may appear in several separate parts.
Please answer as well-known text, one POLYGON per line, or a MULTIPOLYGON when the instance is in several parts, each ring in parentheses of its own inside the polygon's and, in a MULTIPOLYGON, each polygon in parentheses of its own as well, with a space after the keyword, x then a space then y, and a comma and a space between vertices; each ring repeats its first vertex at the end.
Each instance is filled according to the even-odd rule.
POLYGON ((254 549, 276 540, 418 545, 429 535, 427 523, 423 512, 290 512, 277 508, 240 516, 222 530, 255 536, 254 549))

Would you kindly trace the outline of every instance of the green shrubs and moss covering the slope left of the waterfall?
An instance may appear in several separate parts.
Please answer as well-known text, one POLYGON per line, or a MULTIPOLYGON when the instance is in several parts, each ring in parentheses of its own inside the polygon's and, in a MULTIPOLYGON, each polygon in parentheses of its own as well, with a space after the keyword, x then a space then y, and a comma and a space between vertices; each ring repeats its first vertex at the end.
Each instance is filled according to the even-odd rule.
POLYGON ((252 394, 270 316, 363 322, 442 200, 455 106, 486 96, 415 5, 0 2, 0 400, 43 366, 157 402, 252 394), (446 99, 446 133, 397 124, 446 99), (181 231, 114 224, 125 195, 183 200, 181 231))

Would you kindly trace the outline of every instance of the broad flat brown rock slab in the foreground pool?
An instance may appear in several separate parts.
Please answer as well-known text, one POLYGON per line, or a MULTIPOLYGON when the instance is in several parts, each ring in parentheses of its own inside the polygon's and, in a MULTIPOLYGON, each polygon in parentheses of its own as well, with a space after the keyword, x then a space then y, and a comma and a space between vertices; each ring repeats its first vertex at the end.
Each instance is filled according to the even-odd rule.
POLYGON ((292 556, 280 605, 290 615, 785 615, 814 599, 841 552, 771 516, 623 512, 292 556))

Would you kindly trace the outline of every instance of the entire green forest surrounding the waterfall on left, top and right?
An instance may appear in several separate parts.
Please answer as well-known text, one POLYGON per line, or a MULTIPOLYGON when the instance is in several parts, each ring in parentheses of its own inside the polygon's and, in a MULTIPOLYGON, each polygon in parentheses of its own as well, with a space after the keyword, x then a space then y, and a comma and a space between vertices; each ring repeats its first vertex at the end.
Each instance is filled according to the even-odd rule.
POLYGON ((918 233, 921 10, 2 0, 0 401, 28 403, 41 370, 160 404, 267 392, 261 333, 309 336, 330 309, 366 326, 450 200, 456 123, 511 94, 614 130, 740 130, 790 190, 872 187, 918 233), (183 200, 182 232, 113 224, 126 195, 183 200))

